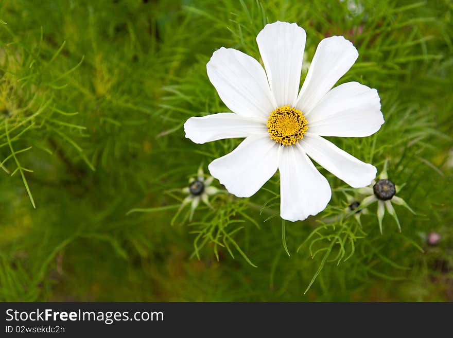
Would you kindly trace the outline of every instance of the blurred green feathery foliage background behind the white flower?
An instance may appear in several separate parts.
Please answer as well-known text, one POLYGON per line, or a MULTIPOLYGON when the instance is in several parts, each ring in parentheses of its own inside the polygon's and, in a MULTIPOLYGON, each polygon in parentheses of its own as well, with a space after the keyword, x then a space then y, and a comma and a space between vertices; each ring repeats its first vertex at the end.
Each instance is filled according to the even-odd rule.
POLYGON ((1 1, 0 300, 453 300, 452 15, 449 0, 1 1), (330 35, 359 50, 340 82, 377 88, 386 123, 334 141, 378 170, 388 160, 417 213, 396 207, 402 233, 387 215, 380 234, 376 205, 362 228, 323 225, 347 206, 325 170, 333 199, 287 223, 290 257, 278 175, 170 224, 176 189, 239 142, 184 137, 188 117, 228 111, 206 62, 221 46, 259 59, 256 34, 276 20, 305 28, 306 61, 330 35), (231 235, 230 248, 194 245, 205 231, 231 235))

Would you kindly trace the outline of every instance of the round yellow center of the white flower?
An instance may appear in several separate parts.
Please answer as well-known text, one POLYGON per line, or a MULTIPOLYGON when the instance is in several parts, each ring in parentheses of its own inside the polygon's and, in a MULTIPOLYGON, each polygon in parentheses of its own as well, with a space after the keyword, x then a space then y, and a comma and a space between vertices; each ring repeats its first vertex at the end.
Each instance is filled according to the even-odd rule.
POLYGON ((298 143, 308 129, 304 114, 289 105, 274 110, 269 115, 266 126, 271 139, 285 146, 298 143))

